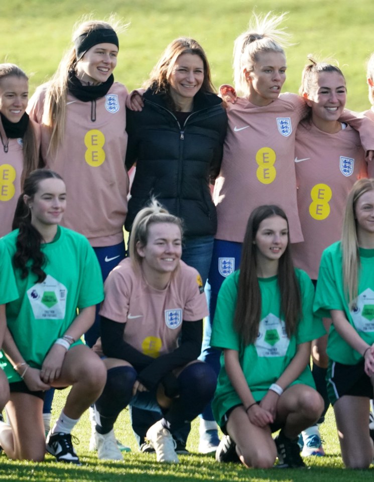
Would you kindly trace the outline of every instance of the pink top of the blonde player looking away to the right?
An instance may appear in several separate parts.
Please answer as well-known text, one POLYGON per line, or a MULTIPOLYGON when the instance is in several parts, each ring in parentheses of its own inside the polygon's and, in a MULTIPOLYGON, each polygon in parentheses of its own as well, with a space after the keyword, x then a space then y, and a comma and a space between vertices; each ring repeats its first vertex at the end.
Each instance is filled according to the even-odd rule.
POLYGON ((221 171, 214 186, 217 239, 242 243, 253 209, 277 204, 287 214, 292 243, 303 240, 294 151, 296 128, 305 110, 303 99, 291 93, 262 107, 240 97, 228 105, 221 171))

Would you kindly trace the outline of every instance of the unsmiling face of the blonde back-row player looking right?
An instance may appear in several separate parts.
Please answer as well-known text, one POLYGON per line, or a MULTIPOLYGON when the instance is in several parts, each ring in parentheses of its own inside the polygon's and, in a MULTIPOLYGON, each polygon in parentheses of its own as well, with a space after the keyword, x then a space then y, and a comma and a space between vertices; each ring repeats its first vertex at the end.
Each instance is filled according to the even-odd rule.
POLYGON ((259 52, 251 72, 245 72, 250 95, 255 105, 268 105, 277 99, 286 80, 286 57, 281 52, 259 52))

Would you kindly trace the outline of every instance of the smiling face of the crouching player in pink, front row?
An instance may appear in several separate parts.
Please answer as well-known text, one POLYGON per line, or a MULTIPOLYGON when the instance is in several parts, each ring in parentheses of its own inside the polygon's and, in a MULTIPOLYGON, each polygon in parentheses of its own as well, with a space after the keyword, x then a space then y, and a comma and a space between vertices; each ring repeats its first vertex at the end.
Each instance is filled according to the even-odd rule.
POLYGON ((181 230, 171 222, 152 223, 148 229, 147 245, 141 246, 138 242, 136 249, 142 258, 146 278, 148 274, 171 274, 177 269, 182 256, 181 230))

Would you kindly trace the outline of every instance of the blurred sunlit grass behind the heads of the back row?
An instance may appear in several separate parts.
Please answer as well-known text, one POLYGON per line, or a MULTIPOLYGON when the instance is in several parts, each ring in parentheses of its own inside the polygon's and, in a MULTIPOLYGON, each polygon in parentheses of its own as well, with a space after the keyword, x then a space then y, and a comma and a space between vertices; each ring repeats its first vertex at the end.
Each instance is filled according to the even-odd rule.
POLYGON ((287 49, 284 91, 296 92, 309 53, 333 58, 346 75, 347 106, 368 108, 365 62, 372 50, 372 0, 13 0, 0 4, 0 61, 18 63, 31 79, 30 91, 55 71, 69 46, 72 26, 92 11, 96 18, 115 12, 131 22, 120 35, 117 80, 129 89, 141 85, 173 38, 186 35, 204 46, 216 86, 232 81, 231 54, 251 12, 289 12, 285 26, 294 45, 287 49))

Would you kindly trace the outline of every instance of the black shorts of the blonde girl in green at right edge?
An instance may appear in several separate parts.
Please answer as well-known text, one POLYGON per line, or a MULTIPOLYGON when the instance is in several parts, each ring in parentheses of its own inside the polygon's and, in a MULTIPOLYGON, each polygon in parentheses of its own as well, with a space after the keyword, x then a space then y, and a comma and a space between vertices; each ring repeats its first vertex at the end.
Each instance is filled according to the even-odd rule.
POLYGON ((373 398, 373 387, 365 374, 363 359, 356 365, 343 365, 329 360, 326 382, 331 405, 344 395, 373 398))

